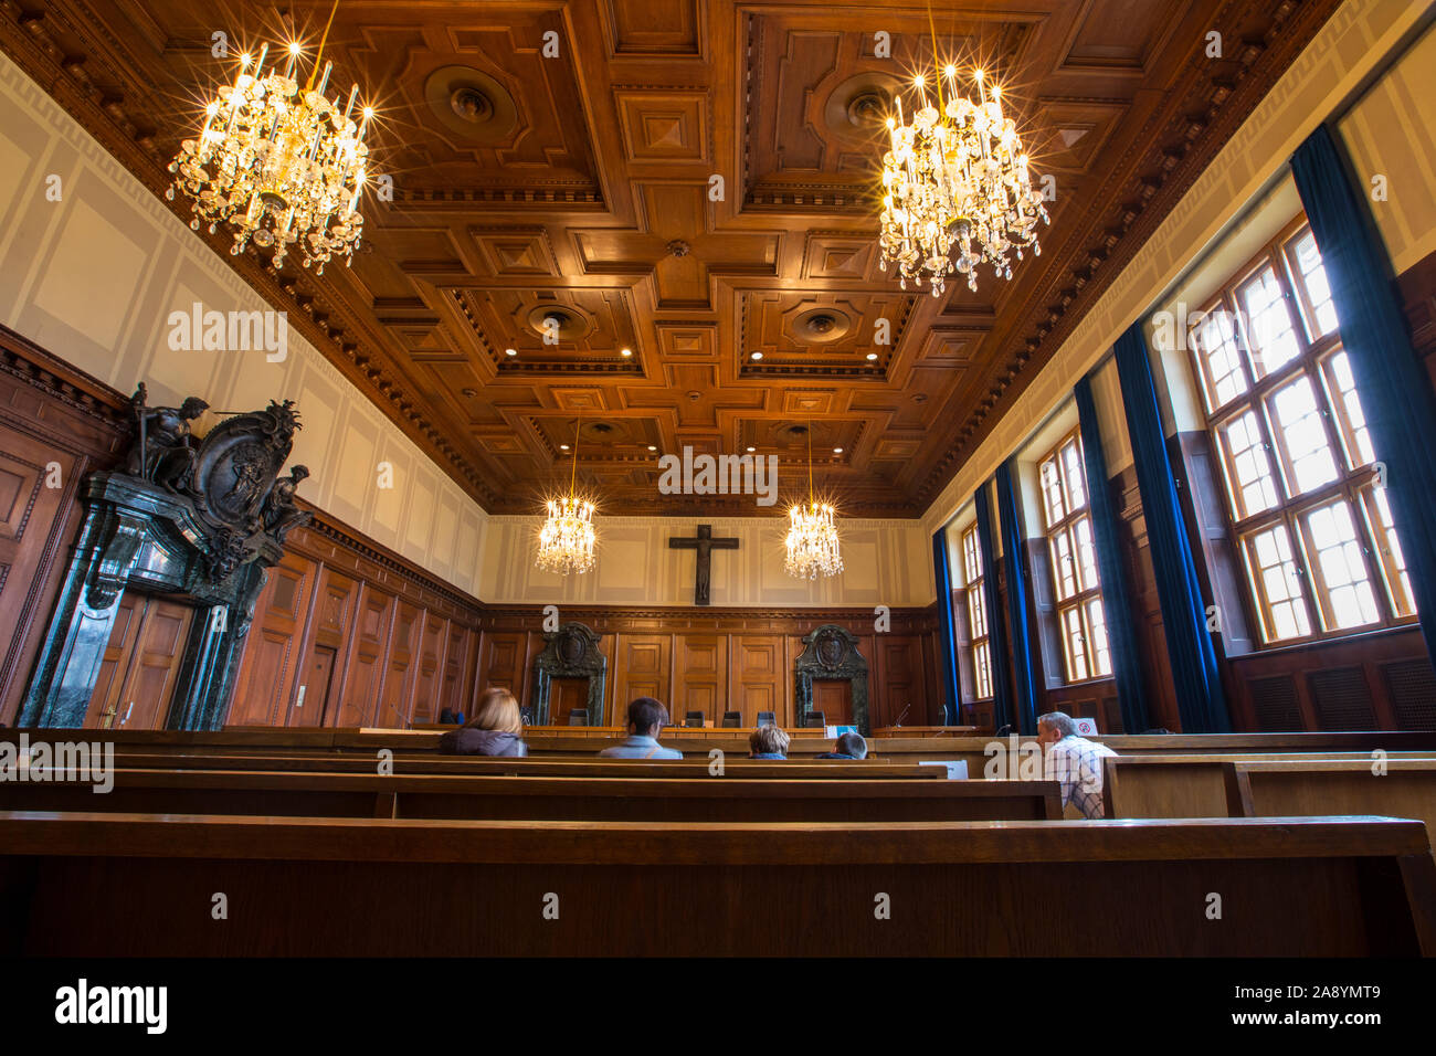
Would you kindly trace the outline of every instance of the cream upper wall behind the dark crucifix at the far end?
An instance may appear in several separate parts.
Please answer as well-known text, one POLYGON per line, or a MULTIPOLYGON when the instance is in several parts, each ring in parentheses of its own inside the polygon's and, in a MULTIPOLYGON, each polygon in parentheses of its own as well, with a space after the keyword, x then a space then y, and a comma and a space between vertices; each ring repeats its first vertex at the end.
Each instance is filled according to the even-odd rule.
MULTIPOLYGON (((781 517, 701 519, 715 536, 738 539, 737 550, 715 550, 714 606, 889 608, 931 605, 931 537, 916 520, 839 519, 843 573, 800 580, 783 570, 787 522, 781 517)), ((582 576, 556 576, 533 565, 538 517, 490 517, 482 598, 511 605, 692 605, 692 550, 669 539, 692 537, 699 519, 595 517, 597 562, 582 576)))

